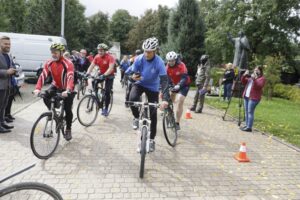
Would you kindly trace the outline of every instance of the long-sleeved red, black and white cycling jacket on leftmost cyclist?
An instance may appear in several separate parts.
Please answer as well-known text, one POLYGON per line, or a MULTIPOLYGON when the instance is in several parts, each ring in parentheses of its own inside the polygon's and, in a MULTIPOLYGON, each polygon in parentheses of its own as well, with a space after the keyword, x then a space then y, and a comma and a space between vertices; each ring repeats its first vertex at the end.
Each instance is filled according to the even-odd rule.
POLYGON ((61 58, 58 61, 49 60, 46 62, 35 89, 41 90, 44 81, 51 73, 52 85, 62 90, 74 90, 74 65, 71 61, 61 58))

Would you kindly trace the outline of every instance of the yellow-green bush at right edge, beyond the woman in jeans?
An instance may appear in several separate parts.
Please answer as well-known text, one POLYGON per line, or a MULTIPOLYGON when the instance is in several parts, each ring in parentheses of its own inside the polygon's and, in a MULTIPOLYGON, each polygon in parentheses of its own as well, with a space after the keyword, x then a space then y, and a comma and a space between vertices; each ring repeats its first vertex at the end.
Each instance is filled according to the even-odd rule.
POLYGON ((292 85, 276 84, 274 87, 275 97, 289 99, 294 102, 300 103, 300 88, 292 85))

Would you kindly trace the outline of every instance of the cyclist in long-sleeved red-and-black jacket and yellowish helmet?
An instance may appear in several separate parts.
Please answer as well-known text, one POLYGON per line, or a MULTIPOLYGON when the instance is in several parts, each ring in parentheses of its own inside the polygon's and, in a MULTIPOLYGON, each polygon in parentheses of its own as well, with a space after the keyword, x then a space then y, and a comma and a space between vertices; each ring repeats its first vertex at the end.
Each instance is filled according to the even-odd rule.
POLYGON ((74 96, 70 95, 74 90, 74 65, 71 61, 63 57, 65 46, 60 43, 54 43, 50 47, 52 59, 47 61, 44 65, 42 74, 36 84, 34 94, 38 95, 44 85, 46 78, 51 75, 52 83, 50 88, 47 90, 44 102, 48 109, 51 108, 51 97, 57 92, 62 92, 64 99, 64 109, 66 112, 66 131, 65 139, 67 141, 72 139, 71 126, 73 120, 72 105, 74 96), (51 73, 50 73, 51 72, 51 73))

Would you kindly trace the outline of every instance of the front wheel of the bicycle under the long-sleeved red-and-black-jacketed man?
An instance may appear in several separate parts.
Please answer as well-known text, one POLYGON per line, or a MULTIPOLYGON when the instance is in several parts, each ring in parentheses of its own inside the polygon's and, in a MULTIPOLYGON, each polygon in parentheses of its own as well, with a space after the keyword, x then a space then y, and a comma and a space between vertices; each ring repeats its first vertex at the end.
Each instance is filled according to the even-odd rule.
POLYGON ((30 134, 30 147, 39 159, 48 159, 55 152, 60 138, 58 120, 52 113, 42 114, 34 123, 30 134))

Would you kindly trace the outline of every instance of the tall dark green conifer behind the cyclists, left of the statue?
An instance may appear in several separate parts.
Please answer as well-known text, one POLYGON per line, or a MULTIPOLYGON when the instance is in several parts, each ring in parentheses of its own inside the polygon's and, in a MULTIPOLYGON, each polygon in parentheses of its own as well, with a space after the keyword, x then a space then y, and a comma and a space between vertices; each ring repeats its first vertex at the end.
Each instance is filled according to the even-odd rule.
POLYGON ((195 74, 199 57, 204 53, 204 32, 198 1, 179 0, 170 17, 166 49, 182 55, 190 74, 195 74))

